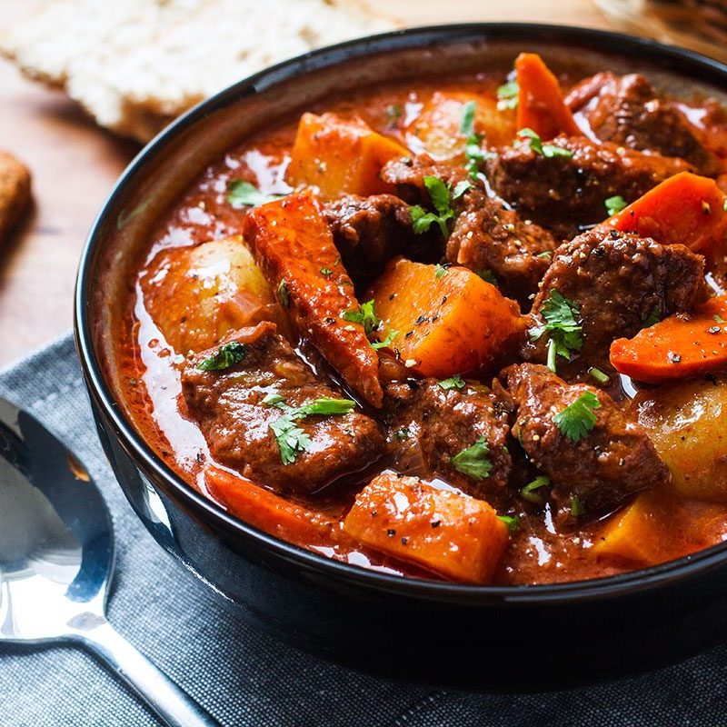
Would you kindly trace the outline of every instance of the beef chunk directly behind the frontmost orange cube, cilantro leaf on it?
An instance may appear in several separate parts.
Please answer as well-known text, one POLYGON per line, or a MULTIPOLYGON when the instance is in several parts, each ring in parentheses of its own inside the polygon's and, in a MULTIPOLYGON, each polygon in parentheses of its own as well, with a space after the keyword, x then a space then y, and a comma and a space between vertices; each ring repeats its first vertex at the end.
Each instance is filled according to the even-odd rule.
POLYGON ((509 498, 507 483, 513 469, 508 451, 513 404, 502 386, 493 389, 466 384, 444 389, 435 379, 393 382, 384 386, 384 408, 392 431, 391 446, 401 448, 407 461, 418 447, 426 475, 439 475, 464 492, 501 506, 509 498), (396 433, 406 437, 397 438, 396 433), (463 473, 452 459, 481 438, 491 468, 486 477, 463 473))

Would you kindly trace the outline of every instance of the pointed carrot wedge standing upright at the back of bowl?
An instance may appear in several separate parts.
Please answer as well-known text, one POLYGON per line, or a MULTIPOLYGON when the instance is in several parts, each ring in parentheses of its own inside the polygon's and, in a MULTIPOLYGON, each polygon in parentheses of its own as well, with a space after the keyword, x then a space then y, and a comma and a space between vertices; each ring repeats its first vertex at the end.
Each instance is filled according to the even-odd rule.
POLYGON ((558 79, 536 53, 521 53, 515 60, 517 83, 517 127, 530 128, 543 141, 558 134, 582 136, 571 109, 563 102, 558 79))

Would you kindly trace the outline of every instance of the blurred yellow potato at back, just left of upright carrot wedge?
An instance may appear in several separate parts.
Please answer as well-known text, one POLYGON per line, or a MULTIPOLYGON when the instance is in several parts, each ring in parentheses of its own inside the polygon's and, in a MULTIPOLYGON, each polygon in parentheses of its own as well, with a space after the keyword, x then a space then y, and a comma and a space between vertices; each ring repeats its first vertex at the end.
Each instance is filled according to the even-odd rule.
POLYGON ((460 91, 437 91, 424 102, 422 113, 407 125, 406 143, 417 154, 429 154, 437 161, 464 162, 466 137, 462 132, 464 107, 474 102, 474 131, 483 136, 485 144, 510 144, 515 136, 512 112, 500 111, 490 96, 460 91))

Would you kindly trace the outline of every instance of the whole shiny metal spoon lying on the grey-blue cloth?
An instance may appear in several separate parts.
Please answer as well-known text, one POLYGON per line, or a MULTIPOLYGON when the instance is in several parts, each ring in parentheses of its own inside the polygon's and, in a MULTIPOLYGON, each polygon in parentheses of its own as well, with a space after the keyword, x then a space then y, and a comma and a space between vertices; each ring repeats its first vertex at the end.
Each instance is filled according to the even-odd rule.
POLYGON ((104 660, 171 727, 214 727, 105 618, 114 533, 74 455, 0 399, 0 642, 75 642, 104 660))

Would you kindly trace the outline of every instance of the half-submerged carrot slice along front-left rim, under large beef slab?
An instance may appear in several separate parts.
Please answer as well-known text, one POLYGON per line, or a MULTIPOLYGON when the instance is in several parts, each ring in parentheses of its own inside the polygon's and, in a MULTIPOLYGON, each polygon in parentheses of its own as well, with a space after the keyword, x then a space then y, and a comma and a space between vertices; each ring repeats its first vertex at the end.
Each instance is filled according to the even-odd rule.
POLYGON ((341 532, 323 513, 315 513, 219 467, 204 470, 208 492, 244 523, 299 545, 331 545, 341 532))

